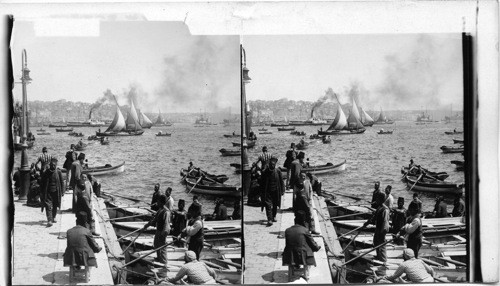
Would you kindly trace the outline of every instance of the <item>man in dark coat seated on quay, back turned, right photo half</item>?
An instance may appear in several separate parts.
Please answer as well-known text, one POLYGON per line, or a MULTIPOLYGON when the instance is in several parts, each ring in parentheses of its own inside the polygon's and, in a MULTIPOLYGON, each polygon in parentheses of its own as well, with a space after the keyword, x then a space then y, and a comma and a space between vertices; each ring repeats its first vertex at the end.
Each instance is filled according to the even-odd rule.
POLYGON ((283 250, 283 265, 288 265, 288 281, 293 276, 294 267, 304 265, 305 279, 309 279, 309 266, 316 266, 314 252, 320 250, 305 227, 305 213, 295 214, 295 225, 285 230, 285 249, 283 250))

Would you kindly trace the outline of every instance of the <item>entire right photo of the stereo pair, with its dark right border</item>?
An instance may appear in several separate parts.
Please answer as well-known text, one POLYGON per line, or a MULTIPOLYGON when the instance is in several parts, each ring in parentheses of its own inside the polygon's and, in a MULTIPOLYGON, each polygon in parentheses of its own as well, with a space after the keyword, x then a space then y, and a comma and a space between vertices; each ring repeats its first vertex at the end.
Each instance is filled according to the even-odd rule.
POLYGON ((243 283, 468 281, 467 35, 241 43, 243 283))

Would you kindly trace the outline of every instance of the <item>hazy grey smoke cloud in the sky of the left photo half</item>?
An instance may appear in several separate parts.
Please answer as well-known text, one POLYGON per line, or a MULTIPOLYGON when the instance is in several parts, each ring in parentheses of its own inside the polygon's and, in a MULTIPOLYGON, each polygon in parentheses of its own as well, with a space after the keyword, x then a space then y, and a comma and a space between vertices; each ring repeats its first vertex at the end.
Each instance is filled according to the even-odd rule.
MULTIPOLYGON (((163 83, 157 104, 175 108, 203 108, 207 112, 227 105, 228 84, 239 86, 239 45, 232 38, 198 36, 183 54, 164 59, 163 83), (236 48, 238 49, 236 49, 236 48), (231 50, 232 49, 232 50, 231 50), (224 95, 226 98, 224 98, 224 95)), ((239 99, 239 88, 234 99, 239 99)))

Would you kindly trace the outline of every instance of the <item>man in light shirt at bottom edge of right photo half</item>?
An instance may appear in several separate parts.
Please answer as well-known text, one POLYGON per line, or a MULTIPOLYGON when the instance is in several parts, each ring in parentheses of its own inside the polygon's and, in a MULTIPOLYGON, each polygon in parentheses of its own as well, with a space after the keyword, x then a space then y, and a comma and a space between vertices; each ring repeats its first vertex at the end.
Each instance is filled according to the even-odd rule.
POLYGON ((434 282, 434 270, 422 260, 415 258, 413 250, 409 248, 403 250, 403 259, 404 262, 399 265, 396 272, 391 276, 385 276, 384 279, 396 282, 399 276, 406 274, 406 279, 412 283, 434 282))

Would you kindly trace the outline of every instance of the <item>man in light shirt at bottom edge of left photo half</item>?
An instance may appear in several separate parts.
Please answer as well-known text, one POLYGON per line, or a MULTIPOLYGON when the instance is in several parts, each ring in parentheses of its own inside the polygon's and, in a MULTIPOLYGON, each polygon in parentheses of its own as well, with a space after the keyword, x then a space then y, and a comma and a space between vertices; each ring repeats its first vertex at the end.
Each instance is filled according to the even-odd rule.
POLYGON ((209 268, 205 263, 196 260, 196 254, 188 250, 184 256, 184 264, 174 278, 168 279, 169 282, 175 283, 187 275, 189 284, 216 284, 215 271, 209 268))

